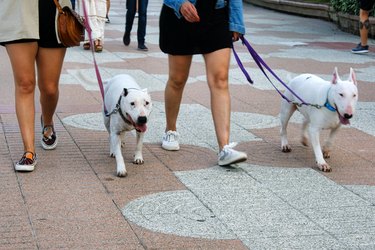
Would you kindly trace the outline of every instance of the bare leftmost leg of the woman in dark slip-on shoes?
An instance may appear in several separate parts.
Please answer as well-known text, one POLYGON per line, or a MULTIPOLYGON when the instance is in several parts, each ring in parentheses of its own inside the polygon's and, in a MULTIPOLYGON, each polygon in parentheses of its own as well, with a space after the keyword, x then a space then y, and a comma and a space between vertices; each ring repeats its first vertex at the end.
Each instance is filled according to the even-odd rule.
POLYGON ((38 44, 15 43, 6 45, 13 69, 15 83, 15 105, 24 151, 35 153, 35 58, 38 44))

